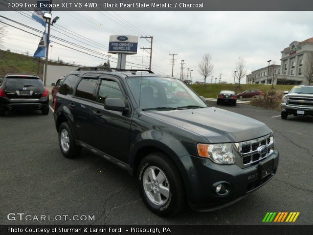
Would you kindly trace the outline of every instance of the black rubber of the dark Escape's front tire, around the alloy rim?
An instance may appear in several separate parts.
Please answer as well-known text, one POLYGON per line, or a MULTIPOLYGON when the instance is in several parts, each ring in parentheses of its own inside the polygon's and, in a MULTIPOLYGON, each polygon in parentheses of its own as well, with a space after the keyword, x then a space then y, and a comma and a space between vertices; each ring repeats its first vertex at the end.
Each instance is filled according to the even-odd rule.
MULTIPOLYGON (((156 176, 158 176, 159 173, 160 171, 158 171, 156 176)), ((176 165, 167 155, 156 152, 144 157, 138 166, 137 183, 142 200, 146 206, 157 215, 162 217, 173 216, 184 209, 186 200, 181 176, 176 165), (163 205, 156 205, 152 202, 144 189, 143 180, 145 178, 145 172, 147 169, 150 170, 150 167, 160 169, 166 176, 167 180, 164 181, 164 184, 168 183, 169 185, 167 185, 169 187, 169 196, 163 205)), ((157 190, 158 189, 159 188, 157 188, 157 190)), ((153 189, 151 191, 153 191, 153 189)))

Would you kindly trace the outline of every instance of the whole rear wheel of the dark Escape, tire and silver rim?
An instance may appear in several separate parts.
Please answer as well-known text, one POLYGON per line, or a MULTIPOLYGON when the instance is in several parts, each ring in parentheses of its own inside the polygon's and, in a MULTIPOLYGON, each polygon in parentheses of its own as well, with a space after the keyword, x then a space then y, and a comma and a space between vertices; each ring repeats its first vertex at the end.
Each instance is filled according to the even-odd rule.
POLYGON ((63 122, 59 128, 59 146, 66 158, 77 158, 82 150, 75 143, 75 138, 68 122, 63 122), (62 136, 62 138, 61 138, 62 136))

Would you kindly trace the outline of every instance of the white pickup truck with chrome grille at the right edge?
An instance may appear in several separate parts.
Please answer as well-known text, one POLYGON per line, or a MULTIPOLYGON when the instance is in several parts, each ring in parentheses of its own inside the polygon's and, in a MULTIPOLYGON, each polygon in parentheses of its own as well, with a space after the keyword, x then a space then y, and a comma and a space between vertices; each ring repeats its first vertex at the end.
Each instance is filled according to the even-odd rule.
POLYGON ((287 119, 290 114, 313 116, 313 86, 294 86, 284 94, 281 118, 287 119))

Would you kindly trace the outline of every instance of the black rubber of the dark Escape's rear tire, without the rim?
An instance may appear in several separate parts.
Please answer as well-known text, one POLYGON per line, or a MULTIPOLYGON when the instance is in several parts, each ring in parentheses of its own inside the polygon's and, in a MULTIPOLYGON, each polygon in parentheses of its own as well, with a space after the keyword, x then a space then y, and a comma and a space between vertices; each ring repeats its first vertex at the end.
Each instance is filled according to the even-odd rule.
POLYGON ((64 155, 64 157, 66 157, 66 158, 77 158, 79 156, 79 154, 82 150, 82 147, 76 145, 74 135, 72 133, 72 130, 71 130, 68 122, 63 122, 60 125, 60 127, 59 127, 59 138, 58 139, 59 139, 59 146, 60 146, 61 152, 64 155), (62 147, 62 144, 61 144, 61 133, 63 130, 67 131, 67 135, 68 135, 68 139, 69 139, 69 148, 67 151, 66 151, 66 149, 64 149, 62 147))

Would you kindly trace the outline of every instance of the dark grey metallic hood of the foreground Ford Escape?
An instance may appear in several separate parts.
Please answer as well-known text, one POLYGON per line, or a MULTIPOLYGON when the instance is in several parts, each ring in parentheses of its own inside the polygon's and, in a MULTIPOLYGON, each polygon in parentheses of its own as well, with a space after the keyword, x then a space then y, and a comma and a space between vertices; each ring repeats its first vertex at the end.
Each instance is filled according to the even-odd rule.
POLYGON ((197 133, 211 143, 247 141, 271 132, 263 122, 215 107, 145 113, 197 133))

